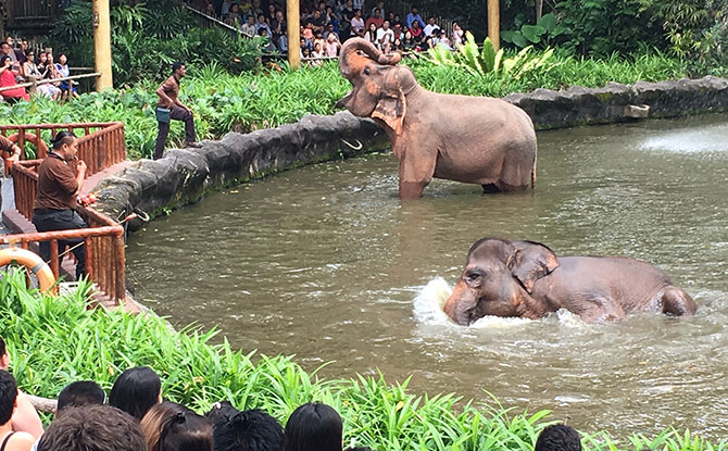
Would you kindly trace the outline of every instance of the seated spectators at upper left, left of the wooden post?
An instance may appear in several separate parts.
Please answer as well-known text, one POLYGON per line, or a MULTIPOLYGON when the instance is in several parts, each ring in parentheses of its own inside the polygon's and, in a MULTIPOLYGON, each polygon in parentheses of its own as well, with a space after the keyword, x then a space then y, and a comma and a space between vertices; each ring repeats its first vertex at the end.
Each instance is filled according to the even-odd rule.
MULTIPOLYGON (((16 86, 33 80, 65 78, 71 75, 68 57, 65 53, 54 59, 50 49, 36 51, 28 47, 28 41, 8 36, 0 42, 0 88, 16 86)), ((59 80, 38 85, 38 93, 53 100, 71 100, 78 97, 76 82, 59 80)), ((0 91, 0 99, 16 101, 29 100, 26 88, 18 87, 0 91)))

